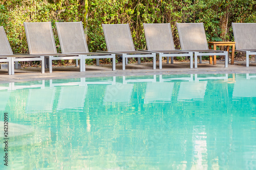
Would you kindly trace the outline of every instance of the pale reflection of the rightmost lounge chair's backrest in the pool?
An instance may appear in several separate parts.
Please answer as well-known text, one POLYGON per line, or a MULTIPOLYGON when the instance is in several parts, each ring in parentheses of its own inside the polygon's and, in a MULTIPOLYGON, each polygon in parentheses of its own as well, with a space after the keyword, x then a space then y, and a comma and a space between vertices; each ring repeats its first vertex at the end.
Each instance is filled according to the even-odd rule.
POLYGON ((236 75, 236 83, 234 83, 232 98, 256 97, 255 85, 256 79, 245 79, 236 75))

